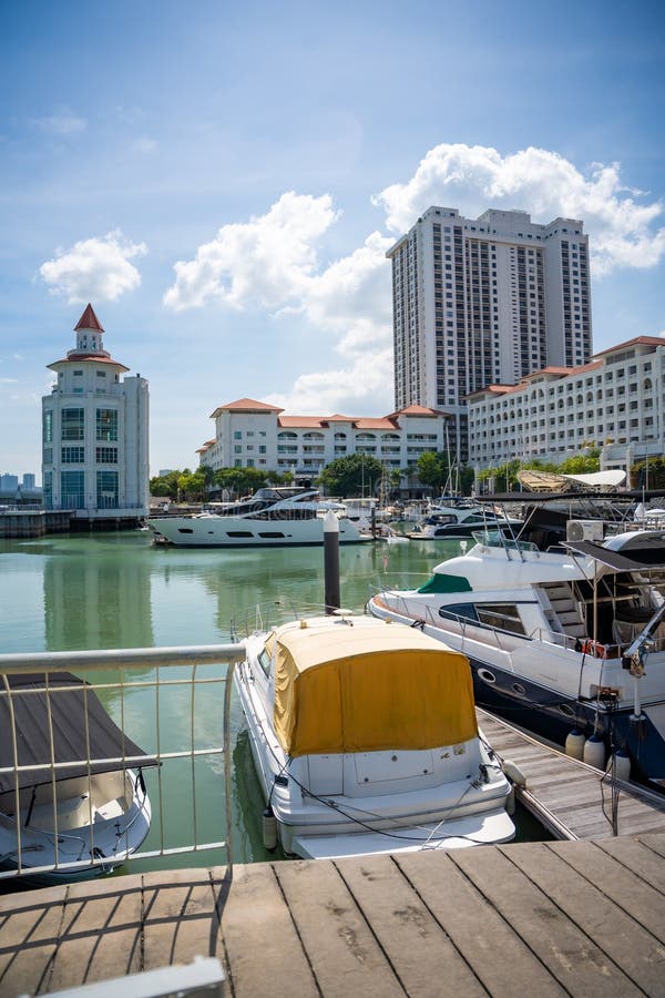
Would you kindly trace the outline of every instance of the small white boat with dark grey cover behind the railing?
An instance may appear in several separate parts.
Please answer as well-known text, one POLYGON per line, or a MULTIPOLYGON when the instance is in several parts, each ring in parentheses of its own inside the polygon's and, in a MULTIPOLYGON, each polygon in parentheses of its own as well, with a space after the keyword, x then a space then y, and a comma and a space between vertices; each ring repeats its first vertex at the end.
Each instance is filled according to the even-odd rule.
POLYGON ((0 688, 0 869, 52 885, 111 873, 151 824, 139 763, 154 765, 70 673, 0 688), (16 734, 16 741, 13 735, 16 734), (16 747, 14 747, 16 746, 16 747))

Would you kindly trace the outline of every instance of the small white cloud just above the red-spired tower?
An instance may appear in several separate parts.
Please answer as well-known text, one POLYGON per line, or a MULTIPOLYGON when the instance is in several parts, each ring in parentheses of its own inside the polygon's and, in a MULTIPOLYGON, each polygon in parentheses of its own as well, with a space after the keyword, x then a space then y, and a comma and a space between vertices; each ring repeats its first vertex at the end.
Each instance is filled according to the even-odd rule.
POLYGON ((144 243, 131 243, 115 230, 57 249, 55 259, 43 263, 39 273, 52 294, 65 295, 70 303, 112 302, 139 287, 141 275, 130 261, 145 253, 144 243))

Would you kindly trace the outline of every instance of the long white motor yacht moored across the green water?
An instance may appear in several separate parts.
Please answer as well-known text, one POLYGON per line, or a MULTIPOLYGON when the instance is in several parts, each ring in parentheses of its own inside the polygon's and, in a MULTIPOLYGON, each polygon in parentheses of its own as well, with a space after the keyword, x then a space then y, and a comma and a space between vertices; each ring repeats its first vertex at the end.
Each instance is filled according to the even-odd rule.
MULTIPOLYGON (((278 548, 323 544, 324 507, 316 489, 257 489, 248 499, 188 517, 151 517, 155 540, 183 548, 278 548)), ((338 513, 339 542, 369 538, 338 513)))

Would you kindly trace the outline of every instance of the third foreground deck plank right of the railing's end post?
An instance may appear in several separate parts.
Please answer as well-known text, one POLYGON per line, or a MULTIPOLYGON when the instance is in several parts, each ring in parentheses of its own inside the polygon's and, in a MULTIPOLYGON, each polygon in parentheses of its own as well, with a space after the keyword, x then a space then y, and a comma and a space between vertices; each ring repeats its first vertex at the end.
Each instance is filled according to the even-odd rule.
POLYGON ((485 995, 472 968, 389 856, 347 859, 337 867, 408 995, 485 995))

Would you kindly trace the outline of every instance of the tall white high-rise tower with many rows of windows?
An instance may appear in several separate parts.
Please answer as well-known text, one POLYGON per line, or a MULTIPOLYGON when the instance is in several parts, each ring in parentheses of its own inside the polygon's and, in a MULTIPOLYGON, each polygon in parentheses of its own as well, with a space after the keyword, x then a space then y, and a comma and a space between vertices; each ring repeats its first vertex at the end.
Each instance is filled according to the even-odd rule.
POLYGON ((430 207, 386 254, 392 263, 396 408, 453 415, 466 460, 466 396, 592 354, 589 237, 583 223, 479 218, 430 207))

